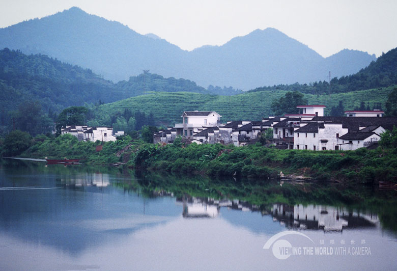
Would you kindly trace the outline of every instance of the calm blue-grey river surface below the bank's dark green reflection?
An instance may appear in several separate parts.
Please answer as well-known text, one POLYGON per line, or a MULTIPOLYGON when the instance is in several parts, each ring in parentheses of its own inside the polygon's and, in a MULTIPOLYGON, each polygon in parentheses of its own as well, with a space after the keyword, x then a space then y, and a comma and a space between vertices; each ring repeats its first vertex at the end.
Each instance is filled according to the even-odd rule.
POLYGON ((193 189, 151 178, 114 168, 3 162, 0 270, 397 269, 395 205, 252 205, 238 192, 228 198, 200 181, 193 189), (300 235, 276 236, 264 249, 285 231, 300 235))

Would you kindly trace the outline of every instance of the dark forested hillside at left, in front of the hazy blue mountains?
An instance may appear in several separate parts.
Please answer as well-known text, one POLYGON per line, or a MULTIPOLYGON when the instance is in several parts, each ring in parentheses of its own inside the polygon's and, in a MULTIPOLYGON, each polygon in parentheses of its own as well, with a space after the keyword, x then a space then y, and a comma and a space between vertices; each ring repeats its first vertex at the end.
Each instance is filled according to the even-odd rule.
POLYGON ((39 101, 44 113, 60 113, 67 106, 113 102, 147 91, 210 93, 190 80, 164 78, 147 71, 114 84, 90 69, 45 55, 0 50, 0 126, 11 123, 10 111, 24 101, 39 101))

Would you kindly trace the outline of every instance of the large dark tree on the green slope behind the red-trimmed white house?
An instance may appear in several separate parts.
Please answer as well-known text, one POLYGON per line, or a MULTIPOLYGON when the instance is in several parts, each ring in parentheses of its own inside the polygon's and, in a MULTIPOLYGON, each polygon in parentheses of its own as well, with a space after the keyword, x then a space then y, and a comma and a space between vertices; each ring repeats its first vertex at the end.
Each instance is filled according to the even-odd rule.
POLYGON ((297 113, 296 106, 307 103, 307 99, 303 98, 303 94, 294 91, 287 92, 284 97, 280 97, 278 100, 272 102, 271 109, 274 114, 281 116, 283 114, 294 114, 297 113))

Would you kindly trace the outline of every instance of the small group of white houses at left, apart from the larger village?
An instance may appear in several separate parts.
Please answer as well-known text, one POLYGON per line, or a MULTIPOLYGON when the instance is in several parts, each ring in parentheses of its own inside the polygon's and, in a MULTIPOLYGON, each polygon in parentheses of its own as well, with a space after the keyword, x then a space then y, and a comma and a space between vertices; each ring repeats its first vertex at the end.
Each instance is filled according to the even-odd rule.
POLYGON ((79 141, 92 141, 97 140, 102 142, 116 141, 116 137, 122 136, 124 132, 113 133, 111 127, 91 127, 91 126, 78 126, 67 125, 61 129, 61 134, 69 133, 75 136, 79 141))

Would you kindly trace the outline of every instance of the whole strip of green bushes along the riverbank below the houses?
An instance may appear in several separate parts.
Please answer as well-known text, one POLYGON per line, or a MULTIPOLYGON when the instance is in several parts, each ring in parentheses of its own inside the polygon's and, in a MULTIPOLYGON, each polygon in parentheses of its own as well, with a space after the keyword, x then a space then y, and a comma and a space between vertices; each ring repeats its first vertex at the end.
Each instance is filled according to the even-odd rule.
POLYGON ((382 134, 379 147, 355 151, 278 150, 260 145, 235 147, 197 145, 184 146, 180 138, 161 147, 129 136, 115 142, 78 142, 65 134, 60 137, 37 136, 13 131, 0 144, 3 156, 31 158, 80 158, 87 164, 114 164, 138 170, 182 172, 208 176, 235 176, 271 179, 280 171, 314 177, 374 184, 394 181, 397 176, 397 128, 382 134), (97 145, 103 144, 100 152, 97 145))

